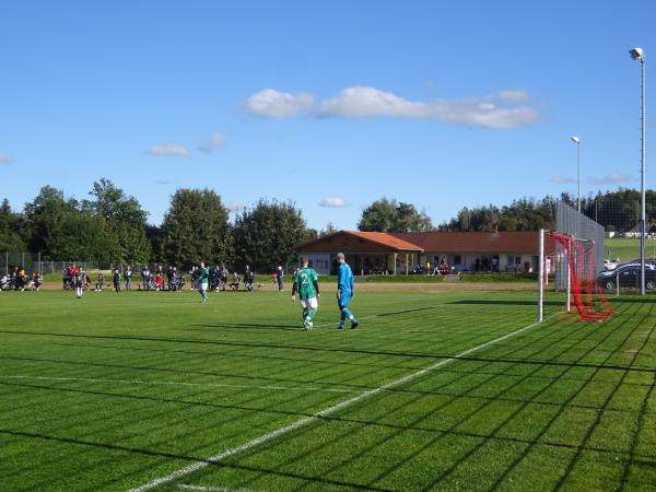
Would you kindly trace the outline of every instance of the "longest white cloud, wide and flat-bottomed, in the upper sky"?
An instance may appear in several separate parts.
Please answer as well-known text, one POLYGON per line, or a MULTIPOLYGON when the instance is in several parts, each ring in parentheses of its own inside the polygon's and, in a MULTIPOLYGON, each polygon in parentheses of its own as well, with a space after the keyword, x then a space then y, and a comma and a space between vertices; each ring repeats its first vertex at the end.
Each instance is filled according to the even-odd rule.
POLYGON ((337 96, 323 102, 319 116, 431 118, 484 128, 516 128, 537 121, 539 117, 532 107, 500 106, 493 98, 409 101, 391 92, 366 86, 344 89, 337 96))

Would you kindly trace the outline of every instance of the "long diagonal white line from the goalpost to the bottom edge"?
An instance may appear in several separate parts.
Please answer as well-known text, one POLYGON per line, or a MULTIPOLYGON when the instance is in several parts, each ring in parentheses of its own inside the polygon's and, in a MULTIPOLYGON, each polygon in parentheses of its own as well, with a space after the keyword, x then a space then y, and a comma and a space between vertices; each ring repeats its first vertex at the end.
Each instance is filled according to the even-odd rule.
MULTIPOLYGON (((551 317, 553 317, 555 315, 551 315, 544 319, 549 319, 551 317)), ((154 489, 155 487, 162 485, 164 483, 168 483, 172 482, 180 477, 184 477, 186 475, 192 473, 195 471, 201 470, 203 468, 206 468, 209 465, 213 465, 213 464, 218 464, 220 461, 223 461, 225 458, 230 458, 231 456, 237 455, 242 452, 246 452, 248 449, 253 449, 254 447, 259 446, 262 443, 266 443, 267 441, 271 441, 274 440, 276 437, 279 437, 281 435, 288 434, 292 431, 296 431, 297 429, 301 429, 309 423, 315 422, 316 420, 324 418, 324 417, 328 417, 335 412, 338 412, 347 407, 350 407, 353 403, 358 403, 359 401, 362 401, 366 398, 370 398, 372 396, 378 395, 383 391, 396 388, 397 386, 403 385, 406 383, 409 383, 413 379, 417 379, 418 377, 423 376, 424 374, 427 374, 432 371, 435 371, 446 364, 449 364, 454 361, 457 361, 460 358, 464 358, 466 355, 469 355, 470 353, 477 352, 479 350, 485 349, 490 345, 493 345, 494 343, 499 343, 503 340, 506 340, 508 338, 515 337, 516 335, 519 335, 526 330, 529 330, 531 328, 534 328, 535 326, 538 326, 540 324, 540 321, 536 321, 536 323, 531 323, 528 326, 525 326, 524 328, 519 328, 518 330, 515 331, 511 331, 509 333, 504 335, 503 337, 499 337, 495 338, 494 340, 490 340, 485 343, 481 343, 480 345, 473 347, 471 349, 468 349, 464 352, 460 352, 457 355, 454 355, 452 358, 448 359, 444 359, 440 362, 436 362, 435 364, 432 364, 427 367, 424 367, 423 370, 420 370, 415 373, 411 373, 408 374, 407 376, 403 376, 399 379, 393 380, 390 383, 387 383, 383 386, 378 386, 377 388, 373 388, 373 389, 368 389, 364 393, 361 393, 360 395, 355 395, 353 398, 349 398, 348 400, 341 401, 337 405, 333 405, 332 407, 328 407, 327 409, 320 410, 309 417, 305 417, 301 420, 297 420, 296 422, 286 425, 284 427, 280 427, 276 431, 269 432, 267 434, 260 435, 259 437, 255 437, 251 441, 248 441, 245 444, 242 444, 241 446, 236 446, 233 447, 231 449, 226 449, 223 453, 219 453, 218 455, 214 456, 210 456, 209 458, 203 459, 202 461, 196 461, 195 464, 191 464, 187 467, 180 468, 167 476, 164 477, 160 477, 156 479, 151 480, 148 483, 144 483, 143 485, 139 485, 134 489, 130 489, 129 492, 143 492, 150 489, 154 489)))

